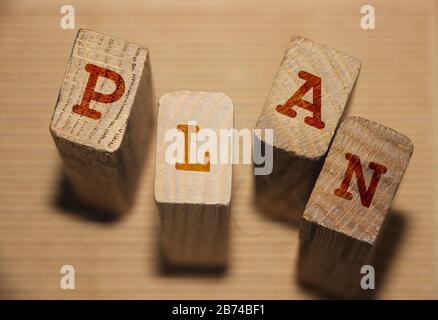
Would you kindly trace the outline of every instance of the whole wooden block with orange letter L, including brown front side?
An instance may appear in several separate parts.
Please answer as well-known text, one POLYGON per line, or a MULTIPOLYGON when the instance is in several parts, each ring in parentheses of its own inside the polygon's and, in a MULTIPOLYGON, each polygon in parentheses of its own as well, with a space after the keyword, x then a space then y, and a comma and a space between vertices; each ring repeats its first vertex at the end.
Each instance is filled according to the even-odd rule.
MULTIPOLYGON (((171 265, 226 265, 232 164, 215 162, 214 146, 203 150, 205 142, 198 139, 205 129, 218 137, 221 129, 232 129, 233 109, 233 102, 223 93, 175 91, 160 98, 154 195, 163 253, 171 265), (173 162, 166 160, 167 150, 175 142, 166 141, 172 130, 184 146, 183 157, 173 162), (194 146, 199 157, 192 156, 194 146)), ((230 154, 232 138, 229 142, 230 154)))

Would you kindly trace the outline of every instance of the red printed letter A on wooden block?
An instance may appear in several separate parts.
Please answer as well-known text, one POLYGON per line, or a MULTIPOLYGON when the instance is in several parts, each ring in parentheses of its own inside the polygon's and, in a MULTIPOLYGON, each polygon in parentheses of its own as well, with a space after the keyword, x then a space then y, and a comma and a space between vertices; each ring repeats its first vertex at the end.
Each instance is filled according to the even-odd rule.
POLYGON ((323 129, 324 122, 321 121, 321 78, 306 71, 298 72, 298 76, 306 80, 304 84, 294 93, 294 95, 283 105, 277 106, 277 111, 291 118, 297 116, 297 112, 293 110, 293 106, 306 109, 313 113, 312 117, 304 118, 304 122, 309 126, 323 129), (313 103, 303 100, 303 96, 307 91, 313 88, 313 103))

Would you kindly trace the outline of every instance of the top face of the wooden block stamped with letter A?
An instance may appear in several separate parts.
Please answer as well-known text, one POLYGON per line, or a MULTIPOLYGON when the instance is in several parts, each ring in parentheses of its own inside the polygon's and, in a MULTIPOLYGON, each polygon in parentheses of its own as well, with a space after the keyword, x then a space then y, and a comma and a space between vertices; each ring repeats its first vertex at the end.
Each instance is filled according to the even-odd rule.
POLYGON ((256 128, 273 129, 275 147, 307 158, 323 156, 359 69, 357 58, 291 37, 256 128))

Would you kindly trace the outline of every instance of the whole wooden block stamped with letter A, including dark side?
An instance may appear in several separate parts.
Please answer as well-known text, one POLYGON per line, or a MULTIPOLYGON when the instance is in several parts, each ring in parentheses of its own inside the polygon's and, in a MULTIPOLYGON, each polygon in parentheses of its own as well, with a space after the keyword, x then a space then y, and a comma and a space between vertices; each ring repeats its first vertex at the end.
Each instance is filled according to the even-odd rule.
POLYGON ((359 69, 350 55, 291 37, 256 124, 274 133, 273 171, 255 178, 256 201, 271 216, 301 218, 359 69))

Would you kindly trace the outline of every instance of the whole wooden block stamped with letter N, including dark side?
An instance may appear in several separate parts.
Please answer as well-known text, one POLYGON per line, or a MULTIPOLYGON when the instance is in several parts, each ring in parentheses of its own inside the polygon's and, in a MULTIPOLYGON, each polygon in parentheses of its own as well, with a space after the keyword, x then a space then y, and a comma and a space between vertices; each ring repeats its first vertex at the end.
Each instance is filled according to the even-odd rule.
POLYGON ((301 221, 302 283, 343 298, 365 293, 361 267, 373 264, 412 152, 411 141, 390 128, 358 117, 342 122, 301 221))

